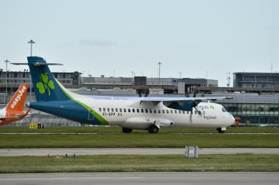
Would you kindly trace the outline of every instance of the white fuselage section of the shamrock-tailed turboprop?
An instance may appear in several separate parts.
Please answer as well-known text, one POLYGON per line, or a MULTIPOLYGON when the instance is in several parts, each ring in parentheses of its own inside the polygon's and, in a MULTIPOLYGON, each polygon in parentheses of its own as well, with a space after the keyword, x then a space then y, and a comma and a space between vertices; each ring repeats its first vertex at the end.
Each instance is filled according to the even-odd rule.
POLYGON ((179 111, 168 108, 162 102, 154 106, 152 102, 145 104, 133 103, 135 99, 93 99, 77 96, 81 102, 93 108, 96 113, 107 120, 110 125, 127 127, 130 129, 147 129, 151 124, 160 127, 228 127, 234 123, 234 117, 225 108, 216 103, 200 102, 197 113, 179 111), (91 99, 89 101, 89 99, 91 99), (133 106, 131 106, 133 105, 133 106))

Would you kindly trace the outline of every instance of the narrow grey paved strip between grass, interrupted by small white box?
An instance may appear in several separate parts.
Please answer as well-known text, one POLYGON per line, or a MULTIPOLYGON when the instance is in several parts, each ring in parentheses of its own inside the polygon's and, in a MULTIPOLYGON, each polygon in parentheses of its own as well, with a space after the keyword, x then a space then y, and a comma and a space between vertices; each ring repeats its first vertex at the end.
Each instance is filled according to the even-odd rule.
MULTIPOLYGON (((199 148, 199 154, 279 154, 279 148, 199 148)), ((0 156, 185 154, 185 148, 15 148, 0 149, 0 156)))

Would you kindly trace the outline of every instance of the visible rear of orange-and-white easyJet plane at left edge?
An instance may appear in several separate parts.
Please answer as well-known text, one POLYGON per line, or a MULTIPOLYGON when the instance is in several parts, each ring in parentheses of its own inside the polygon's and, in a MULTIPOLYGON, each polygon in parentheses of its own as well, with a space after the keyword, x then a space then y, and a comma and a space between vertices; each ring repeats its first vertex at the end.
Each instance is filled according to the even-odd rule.
POLYGON ((0 125, 21 120, 28 115, 30 108, 24 111, 28 83, 22 83, 5 108, 0 109, 0 125))

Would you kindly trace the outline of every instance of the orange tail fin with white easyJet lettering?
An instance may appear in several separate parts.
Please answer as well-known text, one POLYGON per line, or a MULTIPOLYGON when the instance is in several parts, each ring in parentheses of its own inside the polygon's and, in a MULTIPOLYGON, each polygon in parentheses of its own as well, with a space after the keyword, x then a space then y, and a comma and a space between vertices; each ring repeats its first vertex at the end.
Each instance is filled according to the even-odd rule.
POLYGON ((10 99, 10 102, 8 102, 8 105, 6 106, 7 112, 18 112, 18 111, 24 111, 24 104, 25 99, 27 97, 27 90, 28 90, 28 83, 22 83, 20 85, 20 88, 17 89, 17 92, 15 95, 13 95, 12 99, 10 99))

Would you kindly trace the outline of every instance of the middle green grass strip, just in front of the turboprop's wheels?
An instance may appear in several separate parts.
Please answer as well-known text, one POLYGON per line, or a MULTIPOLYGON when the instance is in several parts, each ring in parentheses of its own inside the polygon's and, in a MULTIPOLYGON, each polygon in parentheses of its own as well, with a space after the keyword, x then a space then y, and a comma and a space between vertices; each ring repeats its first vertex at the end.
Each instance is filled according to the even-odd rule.
POLYGON ((1 148, 279 147, 279 134, 0 134, 1 148))

